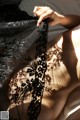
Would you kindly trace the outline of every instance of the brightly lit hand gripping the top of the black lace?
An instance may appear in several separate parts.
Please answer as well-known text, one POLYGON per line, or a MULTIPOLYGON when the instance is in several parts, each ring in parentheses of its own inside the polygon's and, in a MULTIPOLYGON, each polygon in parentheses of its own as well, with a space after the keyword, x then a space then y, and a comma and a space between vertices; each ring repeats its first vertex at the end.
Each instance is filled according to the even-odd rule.
POLYGON ((49 25, 57 25, 62 21, 64 17, 63 15, 53 11, 50 7, 47 6, 36 6, 33 10, 33 13, 39 18, 37 26, 39 26, 41 22, 46 18, 49 18, 49 25))

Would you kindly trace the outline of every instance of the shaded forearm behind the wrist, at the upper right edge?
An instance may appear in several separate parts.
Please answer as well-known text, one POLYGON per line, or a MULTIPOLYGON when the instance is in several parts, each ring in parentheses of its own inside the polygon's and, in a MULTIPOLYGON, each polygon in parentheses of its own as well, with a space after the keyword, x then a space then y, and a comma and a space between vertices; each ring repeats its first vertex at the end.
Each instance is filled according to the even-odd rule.
POLYGON ((66 15, 62 17, 60 25, 66 28, 73 28, 80 24, 80 16, 77 15, 66 15))

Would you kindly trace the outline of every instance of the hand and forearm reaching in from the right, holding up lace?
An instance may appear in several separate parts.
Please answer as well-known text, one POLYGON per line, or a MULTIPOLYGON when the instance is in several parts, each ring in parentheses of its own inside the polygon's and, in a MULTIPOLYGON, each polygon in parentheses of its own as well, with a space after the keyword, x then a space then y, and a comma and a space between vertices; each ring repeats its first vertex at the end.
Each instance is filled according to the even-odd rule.
POLYGON ((33 13, 39 18, 37 26, 39 26, 41 22, 46 18, 49 18, 49 25, 51 26, 60 24, 67 28, 72 28, 80 24, 80 16, 61 15, 47 6, 35 6, 33 13))

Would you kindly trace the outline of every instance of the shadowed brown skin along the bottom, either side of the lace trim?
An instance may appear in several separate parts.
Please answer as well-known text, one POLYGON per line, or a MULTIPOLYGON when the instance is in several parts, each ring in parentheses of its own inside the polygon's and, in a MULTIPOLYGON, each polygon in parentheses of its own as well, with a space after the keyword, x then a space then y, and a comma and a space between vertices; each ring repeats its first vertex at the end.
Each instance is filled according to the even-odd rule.
MULTIPOLYGON (((52 94, 45 94, 42 101, 41 112, 39 114, 38 120, 55 120, 63 109, 68 96, 70 93, 80 86, 80 82, 69 85, 60 91, 54 91, 52 94)), ((29 101, 26 103, 18 105, 19 114, 22 120, 27 120, 27 108, 29 106, 29 101)), ((10 109, 10 114, 15 116, 18 120, 18 112, 16 107, 10 109)))

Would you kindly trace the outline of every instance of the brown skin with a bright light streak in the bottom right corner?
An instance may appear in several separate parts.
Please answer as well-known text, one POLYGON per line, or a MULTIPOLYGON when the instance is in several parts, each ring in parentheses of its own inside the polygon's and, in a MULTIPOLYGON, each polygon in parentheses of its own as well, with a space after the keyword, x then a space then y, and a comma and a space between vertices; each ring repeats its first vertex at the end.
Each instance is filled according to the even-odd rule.
POLYGON ((79 120, 80 115, 78 112, 80 112, 80 87, 76 88, 68 97, 67 102, 65 104, 65 107, 63 108, 62 112, 58 116, 57 120, 67 120, 75 119, 79 120), (78 108, 78 110, 74 111, 73 114, 71 113, 72 110, 75 108, 78 108), (77 112, 78 111, 78 112, 77 112), (72 114, 72 115, 70 115, 72 114))

